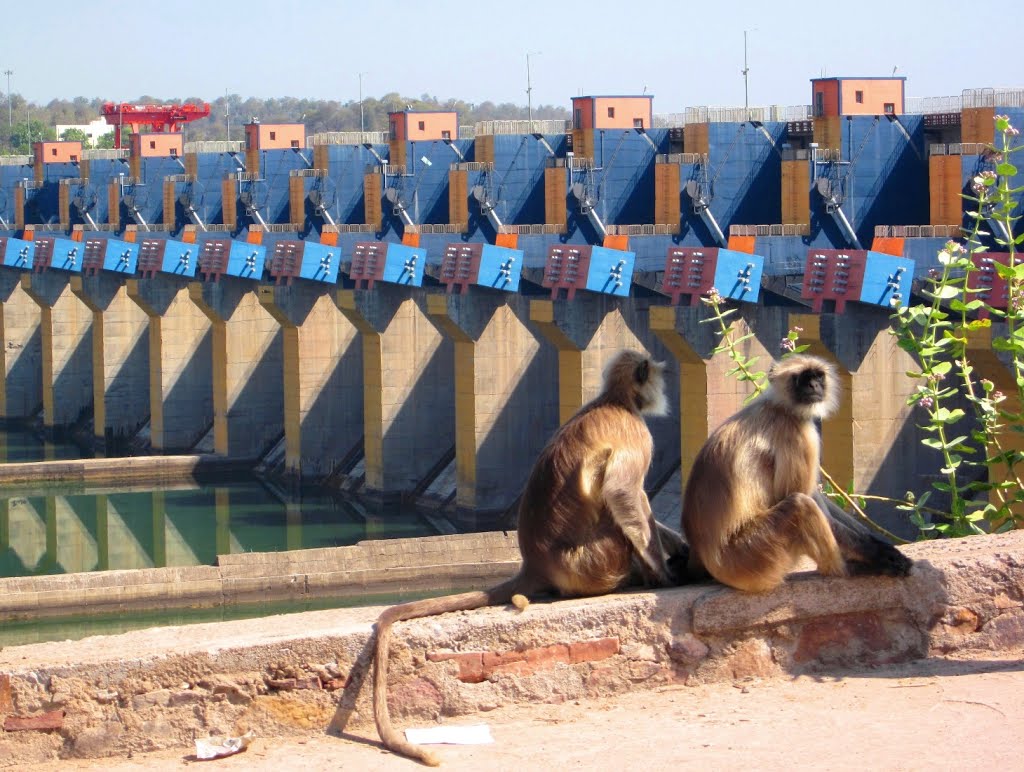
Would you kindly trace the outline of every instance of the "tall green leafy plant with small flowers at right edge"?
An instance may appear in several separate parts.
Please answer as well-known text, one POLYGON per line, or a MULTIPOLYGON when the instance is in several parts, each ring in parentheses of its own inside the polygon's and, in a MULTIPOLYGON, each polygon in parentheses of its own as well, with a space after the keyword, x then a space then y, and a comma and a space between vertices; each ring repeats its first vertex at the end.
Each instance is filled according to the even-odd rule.
POLYGON ((941 479, 932 483, 948 499, 949 509, 927 507, 932 491, 908 496, 902 508, 924 538, 962 537, 1013 527, 1021 517, 1024 485, 1018 467, 1024 456, 1007 446, 1004 433, 1021 432, 1020 405, 1024 403, 1024 264, 1018 247, 1024 234, 1013 238, 1018 217, 1016 197, 1024 187, 1012 187, 1017 175, 1010 159, 1018 131, 1006 116, 995 120, 999 145, 989 156, 994 168, 980 172, 972 182, 972 221, 966 246, 948 242, 939 252, 938 267, 926 280, 921 294, 926 302, 896 308, 893 334, 900 348, 911 353, 919 369, 907 373, 918 382, 908 403, 925 416, 924 442, 939 453, 941 479), (1007 308, 986 302, 984 289, 975 289, 971 275, 981 270, 987 238, 1008 255, 991 267, 1007 283, 1007 308), (979 315, 980 311, 986 314, 979 315), (998 330, 993 328, 996 320, 998 330), (1008 410, 1007 398, 990 380, 979 379, 971 359, 971 337, 991 334, 991 346, 1007 361, 1017 390, 1017 408, 1008 410), (967 410, 964 409, 964 406, 967 410), (991 481, 994 467, 1005 479, 991 481), (933 517, 934 515, 934 517, 933 517))

